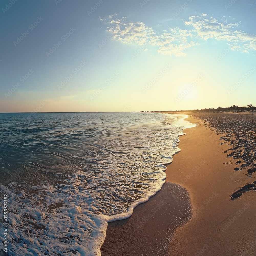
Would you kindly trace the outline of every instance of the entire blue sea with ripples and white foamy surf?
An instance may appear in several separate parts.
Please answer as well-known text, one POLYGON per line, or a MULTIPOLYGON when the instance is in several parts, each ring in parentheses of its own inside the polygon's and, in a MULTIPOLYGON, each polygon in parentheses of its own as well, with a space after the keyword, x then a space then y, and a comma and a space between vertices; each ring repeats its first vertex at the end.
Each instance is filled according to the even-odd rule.
POLYGON ((161 189, 179 136, 194 126, 186 117, 1 113, 8 255, 100 255, 107 222, 161 189))

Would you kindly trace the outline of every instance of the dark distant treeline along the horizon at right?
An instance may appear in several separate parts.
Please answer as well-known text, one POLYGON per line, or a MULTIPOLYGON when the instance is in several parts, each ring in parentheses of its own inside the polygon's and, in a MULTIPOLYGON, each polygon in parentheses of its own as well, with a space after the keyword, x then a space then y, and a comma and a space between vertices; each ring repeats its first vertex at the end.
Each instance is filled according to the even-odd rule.
POLYGON ((242 111, 250 111, 250 110, 256 110, 256 107, 252 104, 248 104, 247 107, 239 107, 236 105, 233 105, 231 107, 227 108, 221 108, 218 107, 217 109, 194 109, 194 110, 168 110, 168 111, 140 111, 140 112, 213 112, 213 113, 219 113, 219 112, 229 112, 229 111, 236 111, 236 112, 242 112, 242 111))

